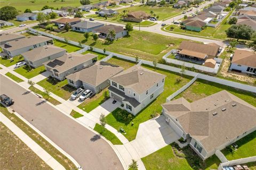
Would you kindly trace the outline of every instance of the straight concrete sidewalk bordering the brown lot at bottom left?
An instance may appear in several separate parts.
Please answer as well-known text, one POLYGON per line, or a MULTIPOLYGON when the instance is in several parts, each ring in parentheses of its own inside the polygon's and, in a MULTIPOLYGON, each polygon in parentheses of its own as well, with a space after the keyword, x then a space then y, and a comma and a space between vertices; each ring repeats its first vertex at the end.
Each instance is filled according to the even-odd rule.
POLYGON ((33 150, 36 155, 38 155, 47 165, 52 169, 65 170, 65 168, 55 160, 49 153, 47 153, 43 148, 41 148, 35 141, 33 141, 26 133, 21 131, 21 129, 11 122, 7 117, 5 117, 0 112, 1 122, 7 126, 19 139, 24 142, 31 150, 33 150))

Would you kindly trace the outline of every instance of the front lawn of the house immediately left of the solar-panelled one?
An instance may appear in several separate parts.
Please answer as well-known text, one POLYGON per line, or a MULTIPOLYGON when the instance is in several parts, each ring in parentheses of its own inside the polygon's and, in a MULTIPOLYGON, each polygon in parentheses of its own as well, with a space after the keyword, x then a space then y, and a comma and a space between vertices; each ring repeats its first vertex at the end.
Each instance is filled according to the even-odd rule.
POLYGON ((15 72, 17 72, 18 74, 30 79, 32 77, 35 77, 39 74, 41 74, 42 72, 46 71, 44 66, 40 66, 37 68, 32 68, 31 70, 29 70, 28 66, 23 66, 20 68, 17 68, 14 70, 15 72))

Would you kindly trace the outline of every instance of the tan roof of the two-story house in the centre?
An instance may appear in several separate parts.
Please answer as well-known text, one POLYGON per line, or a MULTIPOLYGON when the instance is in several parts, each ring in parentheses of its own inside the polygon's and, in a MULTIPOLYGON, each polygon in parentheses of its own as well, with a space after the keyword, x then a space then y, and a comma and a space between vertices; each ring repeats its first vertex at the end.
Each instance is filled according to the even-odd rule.
POLYGON ((154 86, 165 77, 165 75, 159 74, 158 72, 135 65, 118 75, 111 77, 110 80, 113 80, 124 87, 130 87, 135 92, 141 94, 146 90, 149 90, 150 87, 154 86))

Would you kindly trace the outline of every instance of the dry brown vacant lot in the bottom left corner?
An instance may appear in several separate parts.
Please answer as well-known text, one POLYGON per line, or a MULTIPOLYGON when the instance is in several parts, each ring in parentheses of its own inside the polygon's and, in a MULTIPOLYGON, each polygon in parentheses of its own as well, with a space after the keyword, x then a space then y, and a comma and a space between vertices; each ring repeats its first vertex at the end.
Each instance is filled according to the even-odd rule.
POLYGON ((0 131, 1 169, 52 169, 2 122, 0 131))

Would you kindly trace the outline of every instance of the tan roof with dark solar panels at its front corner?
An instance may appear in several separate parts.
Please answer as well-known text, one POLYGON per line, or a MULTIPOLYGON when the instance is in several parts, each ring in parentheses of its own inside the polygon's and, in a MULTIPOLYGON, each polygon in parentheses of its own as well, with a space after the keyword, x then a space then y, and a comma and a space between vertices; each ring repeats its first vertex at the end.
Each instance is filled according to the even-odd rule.
POLYGON ((50 67, 54 70, 54 72, 64 72, 67 71, 71 68, 74 68, 78 66, 79 64, 82 64, 86 61, 92 60, 94 58, 97 58, 98 55, 87 53, 85 55, 79 54, 76 52, 72 52, 66 55, 63 55, 59 57, 58 59, 54 59, 48 62, 45 62, 46 67, 50 67), (58 60, 58 62, 61 62, 61 64, 55 64, 55 62, 58 60))

